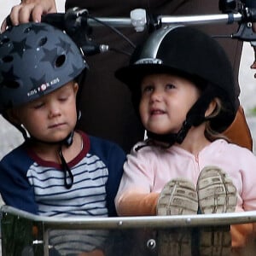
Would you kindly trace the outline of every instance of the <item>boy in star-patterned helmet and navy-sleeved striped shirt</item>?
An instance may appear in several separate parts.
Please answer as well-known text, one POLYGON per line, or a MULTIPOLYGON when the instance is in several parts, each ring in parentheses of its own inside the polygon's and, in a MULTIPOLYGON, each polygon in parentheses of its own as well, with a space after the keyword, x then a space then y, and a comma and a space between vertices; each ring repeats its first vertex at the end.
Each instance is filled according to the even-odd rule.
MULTIPOLYGON (((14 26, 0 42, 0 109, 25 137, 0 162, 3 201, 43 216, 116 216, 125 153, 75 130, 79 79, 88 69, 80 50, 65 32, 44 23, 14 26)), ((55 248, 95 252, 108 236, 76 233, 52 232, 55 248)))

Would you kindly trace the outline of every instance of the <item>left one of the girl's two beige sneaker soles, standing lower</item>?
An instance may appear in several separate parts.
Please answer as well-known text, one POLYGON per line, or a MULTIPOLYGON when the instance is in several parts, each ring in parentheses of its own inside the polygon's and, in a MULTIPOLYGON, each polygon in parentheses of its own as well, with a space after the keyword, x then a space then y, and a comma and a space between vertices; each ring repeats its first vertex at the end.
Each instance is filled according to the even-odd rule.
MULTIPOLYGON (((157 215, 196 214, 197 192, 193 183, 183 179, 166 183, 160 193, 157 215)), ((159 256, 191 255, 191 230, 185 228, 160 230, 158 232, 159 256)))

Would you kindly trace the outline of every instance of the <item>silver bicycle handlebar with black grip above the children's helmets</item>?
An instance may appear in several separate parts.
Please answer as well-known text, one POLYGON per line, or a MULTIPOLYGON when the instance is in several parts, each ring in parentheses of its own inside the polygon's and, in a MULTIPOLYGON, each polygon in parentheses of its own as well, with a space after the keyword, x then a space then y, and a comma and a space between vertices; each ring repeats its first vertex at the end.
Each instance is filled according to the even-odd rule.
MULTIPOLYGON (((142 9, 136 9, 142 10, 142 9)), ((133 11, 136 11, 133 10, 133 11)), ((256 33, 253 32, 252 22, 256 21, 256 9, 244 9, 243 11, 230 14, 213 14, 213 15, 158 15, 150 17, 144 11, 144 16, 134 17, 93 17, 89 15, 87 9, 73 8, 67 10, 64 14, 48 14, 42 17, 42 21, 61 27, 62 29, 71 29, 83 26, 102 26, 108 25, 113 27, 134 27, 137 31, 143 31, 146 26, 154 26, 157 29, 163 25, 206 25, 206 24, 232 24, 239 23, 238 32, 230 35, 230 38, 236 38, 241 41, 256 41, 256 33), (137 25, 136 22, 140 22, 137 25), (63 27, 64 26, 64 27, 63 27), (143 28, 142 28, 143 27, 143 28)), ((68 33, 68 31, 67 31, 68 33)))

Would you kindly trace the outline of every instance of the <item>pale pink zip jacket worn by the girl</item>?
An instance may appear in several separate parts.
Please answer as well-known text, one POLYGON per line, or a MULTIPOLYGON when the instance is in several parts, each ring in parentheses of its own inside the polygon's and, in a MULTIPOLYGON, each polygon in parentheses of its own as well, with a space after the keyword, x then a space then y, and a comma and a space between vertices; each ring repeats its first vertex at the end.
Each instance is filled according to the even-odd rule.
POLYGON ((147 146, 136 151, 137 145, 125 162, 124 175, 115 200, 118 210, 119 201, 125 194, 160 193, 173 178, 183 177, 196 186, 205 166, 218 166, 229 174, 237 189, 236 212, 256 210, 256 156, 247 148, 219 139, 203 148, 195 157, 177 146, 147 146))

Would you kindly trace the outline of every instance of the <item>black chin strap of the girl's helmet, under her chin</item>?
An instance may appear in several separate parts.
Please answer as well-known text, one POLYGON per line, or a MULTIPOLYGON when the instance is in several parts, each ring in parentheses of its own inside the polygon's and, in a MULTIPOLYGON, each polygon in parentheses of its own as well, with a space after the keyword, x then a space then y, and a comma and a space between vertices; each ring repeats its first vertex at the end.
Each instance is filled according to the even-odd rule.
POLYGON ((149 140, 159 141, 160 143, 167 143, 168 147, 171 147, 174 143, 183 143, 184 138, 187 136, 189 129, 192 126, 201 125, 207 118, 205 113, 209 104, 215 96, 215 90, 211 86, 202 92, 199 99, 189 109, 186 119, 183 121, 183 125, 177 133, 168 134, 156 134, 152 131, 147 131, 149 140))

